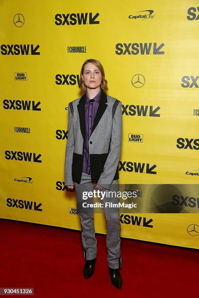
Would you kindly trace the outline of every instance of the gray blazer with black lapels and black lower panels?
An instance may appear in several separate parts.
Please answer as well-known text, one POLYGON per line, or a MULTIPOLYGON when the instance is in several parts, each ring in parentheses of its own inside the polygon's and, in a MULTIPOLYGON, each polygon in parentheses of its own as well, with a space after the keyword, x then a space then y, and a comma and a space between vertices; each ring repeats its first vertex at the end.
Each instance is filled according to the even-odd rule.
MULTIPOLYGON (((121 101, 102 91, 88 141, 91 178, 110 189, 119 178, 118 163, 122 138, 121 101), (114 115, 113 115, 114 111, 114 115)), ((85 137, 85 94, 68 104, 68 139, 65 151, 64 185, 80 183, 85 137)))

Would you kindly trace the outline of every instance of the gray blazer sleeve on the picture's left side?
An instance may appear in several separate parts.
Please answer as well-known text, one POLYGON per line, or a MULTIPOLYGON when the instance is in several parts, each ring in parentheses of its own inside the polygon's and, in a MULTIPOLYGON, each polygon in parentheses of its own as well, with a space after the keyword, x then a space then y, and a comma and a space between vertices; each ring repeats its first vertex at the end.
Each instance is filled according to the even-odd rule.
POLYGON ((68 104, 68 139, 65 150, 64 163, 64 185, 73 185, 72 179, 72 162, 74 152, 74 134, 73 134, 73 115, 70 110, 70 103, 68 104))

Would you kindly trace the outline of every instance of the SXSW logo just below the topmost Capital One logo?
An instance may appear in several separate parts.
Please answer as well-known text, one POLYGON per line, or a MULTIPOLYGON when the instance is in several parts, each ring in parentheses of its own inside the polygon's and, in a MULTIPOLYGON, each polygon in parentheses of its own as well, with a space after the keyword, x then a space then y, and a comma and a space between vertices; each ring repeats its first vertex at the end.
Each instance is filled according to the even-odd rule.
POLYGON ((159 45, 157 42, 117 43, 115 52, 117 55, 164 55, 164 51, 160 51, 163 46, 163 42, 159 45))

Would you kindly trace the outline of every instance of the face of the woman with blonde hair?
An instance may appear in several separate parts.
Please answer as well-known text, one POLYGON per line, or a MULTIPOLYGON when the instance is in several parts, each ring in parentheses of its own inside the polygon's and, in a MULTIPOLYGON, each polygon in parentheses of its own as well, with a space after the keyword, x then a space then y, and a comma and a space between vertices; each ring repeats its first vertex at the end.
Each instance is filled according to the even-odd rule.
POLYGON ((83 75, 81 75, 81 77, 84 80, 86 87, 96 89, 101 84, 102 74, 97 66, 89 62, 84 66, 83 75))

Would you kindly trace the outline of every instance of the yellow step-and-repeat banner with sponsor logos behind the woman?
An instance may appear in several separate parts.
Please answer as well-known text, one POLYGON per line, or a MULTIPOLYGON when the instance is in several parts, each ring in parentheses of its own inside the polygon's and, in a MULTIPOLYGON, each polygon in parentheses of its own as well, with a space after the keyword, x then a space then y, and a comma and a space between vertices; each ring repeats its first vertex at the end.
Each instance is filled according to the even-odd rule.
POLYGON ((198 26, 196 1, 0 0, 0 217, 80 230, 67 106, 94 58, 122 102, 119 184, 157 205, 169 187, 176 206, 121 214, 121 237, 199 248, 198 26))

